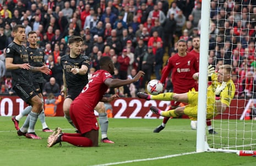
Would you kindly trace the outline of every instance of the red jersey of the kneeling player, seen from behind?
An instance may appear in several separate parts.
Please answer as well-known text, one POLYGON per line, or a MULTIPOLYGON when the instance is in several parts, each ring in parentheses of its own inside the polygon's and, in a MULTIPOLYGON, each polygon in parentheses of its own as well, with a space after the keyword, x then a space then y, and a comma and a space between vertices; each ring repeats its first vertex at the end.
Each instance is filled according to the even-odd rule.
POLYGON ((79 104, 84 110, 94 111, 94 107, 101 101, 108 89, 108 86, 104 83, 108 78, 112 78, 108 71, 97 70, 72 103, 79 104))

